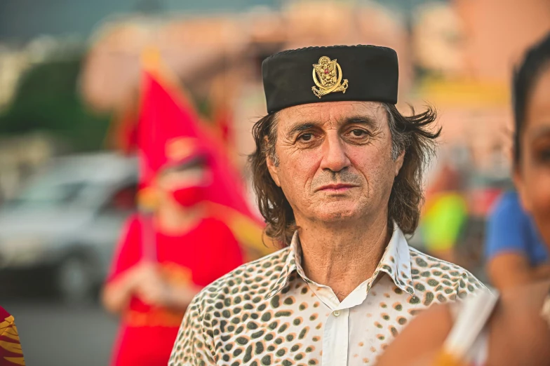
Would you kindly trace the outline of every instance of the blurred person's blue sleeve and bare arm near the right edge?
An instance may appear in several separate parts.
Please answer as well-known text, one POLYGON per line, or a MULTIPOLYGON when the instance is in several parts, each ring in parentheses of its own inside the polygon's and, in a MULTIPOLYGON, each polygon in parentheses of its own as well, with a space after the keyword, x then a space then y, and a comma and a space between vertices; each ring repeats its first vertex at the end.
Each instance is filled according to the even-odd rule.
POLYGON ((492 210, 485 257, 489 279, 499 290, 550 278, 548 250, 516 191, 504 193, 492 210))

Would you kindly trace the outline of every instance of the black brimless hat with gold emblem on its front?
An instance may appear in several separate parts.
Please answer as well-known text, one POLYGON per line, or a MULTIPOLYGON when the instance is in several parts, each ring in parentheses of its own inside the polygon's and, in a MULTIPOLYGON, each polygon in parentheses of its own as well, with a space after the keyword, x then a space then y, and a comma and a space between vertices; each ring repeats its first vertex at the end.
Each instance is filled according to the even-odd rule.
POLYGON ((316 102, 397 102, 397 54, 387 47, 285 50, 262 63, 267 112, 316 102))

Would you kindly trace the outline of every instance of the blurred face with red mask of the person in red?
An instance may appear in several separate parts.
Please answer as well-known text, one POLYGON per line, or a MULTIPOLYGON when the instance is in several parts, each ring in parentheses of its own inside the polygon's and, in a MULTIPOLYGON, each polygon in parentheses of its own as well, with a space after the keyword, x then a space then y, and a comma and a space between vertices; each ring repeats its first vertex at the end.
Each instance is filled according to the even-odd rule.
POLYGON ((190 208, 204 201, 210 181, 210 169, 203 163, 167 168, 156 180, 160 204, 176 203, 190 208))

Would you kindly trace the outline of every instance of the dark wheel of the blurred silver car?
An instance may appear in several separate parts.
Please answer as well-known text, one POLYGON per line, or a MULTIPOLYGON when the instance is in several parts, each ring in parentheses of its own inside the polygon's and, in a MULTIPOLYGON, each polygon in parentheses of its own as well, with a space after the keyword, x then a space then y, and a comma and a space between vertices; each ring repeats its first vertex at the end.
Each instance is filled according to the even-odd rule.
POLYGON ((56 282, 60 296, 67 303, 82 304, 93 299, 92 272, 80 257, 67 257, 61 262, 56 282))

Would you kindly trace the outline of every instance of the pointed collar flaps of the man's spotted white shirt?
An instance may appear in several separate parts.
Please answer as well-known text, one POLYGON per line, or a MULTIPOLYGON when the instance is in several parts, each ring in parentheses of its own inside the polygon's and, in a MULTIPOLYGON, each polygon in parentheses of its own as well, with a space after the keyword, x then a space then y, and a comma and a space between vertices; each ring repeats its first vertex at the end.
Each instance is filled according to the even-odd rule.
MULTIPOLYGON (((302 269, 302 246, 300 245, 300 237, 298 231, 294 232, 292 241, 290 242, 290 248, 288 250, 288 256, 285 259, 285 264, 281 270, 279 278, 269 287, 265 298, 269 299, 286 287, 290 275, 297 271, 297 273, 306 281, 311 282, 305 276, 302 269)), ((387 275, 394 281, 395 285, 404 292, 414 296, 415 290, 412 285, 411 275, 411 263, 409 245, 403 231, 399 229, 394 222, 394 231, 391 235, 391 239, 382 255, 382 259, 378 263, 378 266, 369 281, 367 291, 373 286, 373 283, 380 272, 387 273, 387 275)))

